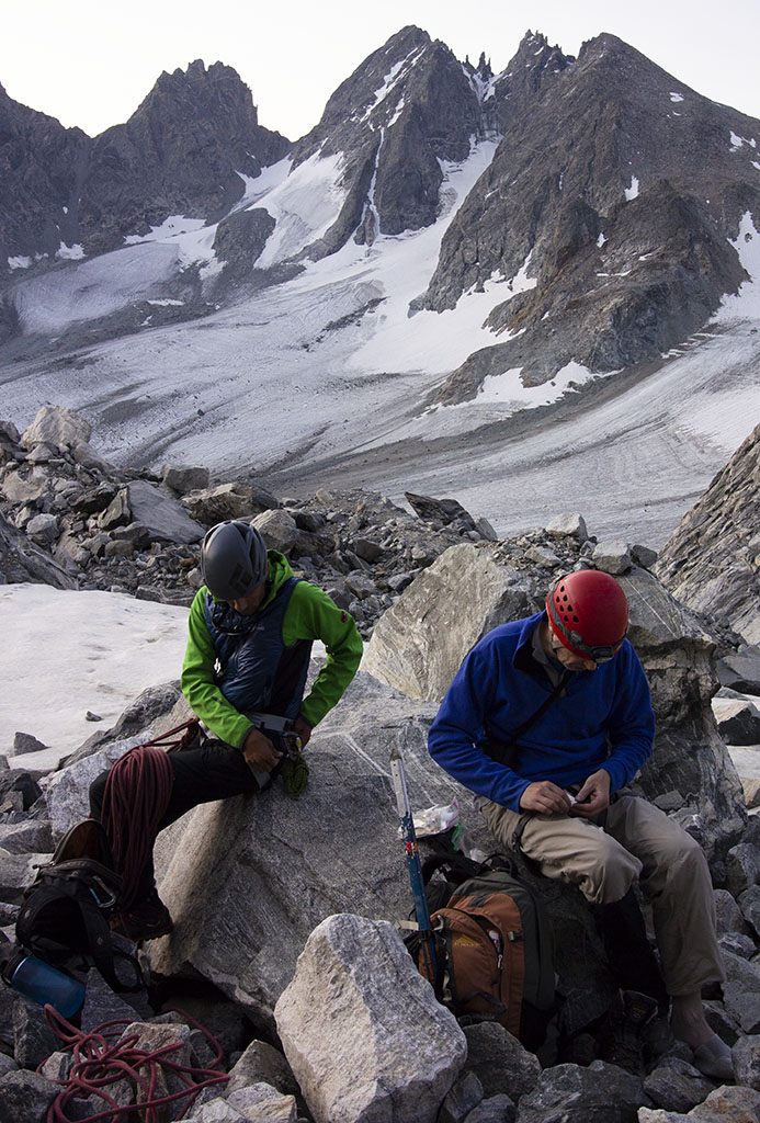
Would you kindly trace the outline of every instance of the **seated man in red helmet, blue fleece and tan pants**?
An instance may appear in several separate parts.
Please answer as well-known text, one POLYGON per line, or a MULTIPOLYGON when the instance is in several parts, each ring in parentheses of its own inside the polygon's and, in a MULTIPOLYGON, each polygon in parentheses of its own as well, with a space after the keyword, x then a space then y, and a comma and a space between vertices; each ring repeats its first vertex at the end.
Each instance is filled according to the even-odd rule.
POLYGON ((608 574, 560 578, 544 612, 488 632, 466 657, 429 737, 433 759, 482 797, 488 827, 547 877, 587 901, 652 903, 674 1033, 703 1072, 731 1079, 702 986, 725 978, 699 846, 625 791, 652 750, 649 685, 630 641, 628 602, 608 574))

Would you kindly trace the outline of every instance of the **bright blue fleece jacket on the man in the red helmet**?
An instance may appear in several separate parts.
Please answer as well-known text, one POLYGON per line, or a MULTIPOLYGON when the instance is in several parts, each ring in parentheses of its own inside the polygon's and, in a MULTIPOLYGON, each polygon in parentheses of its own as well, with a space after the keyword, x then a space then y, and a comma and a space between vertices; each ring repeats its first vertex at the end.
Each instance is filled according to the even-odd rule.
POLYGON ((565 696, 520 738, 513 767, 485 752, 491 737, 510 742, 512 733, 551 694, 551 684, 532 658, 539 612, 502 624, 469 652, 441 702, 430 729, 432 758, 478 795, 520 810, 520 797, 534 780, 560 787, 583 783, 604 767, 611 792, 633 778, 652 750, 654 713, 639 657, 625 640, 614 659, 596 670, 574 673, 565 696))

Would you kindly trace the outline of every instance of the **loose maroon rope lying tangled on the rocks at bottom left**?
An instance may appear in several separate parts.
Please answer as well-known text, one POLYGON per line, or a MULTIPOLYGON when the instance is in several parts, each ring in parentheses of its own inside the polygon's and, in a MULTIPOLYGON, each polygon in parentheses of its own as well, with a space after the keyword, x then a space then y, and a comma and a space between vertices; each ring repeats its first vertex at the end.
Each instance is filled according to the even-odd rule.
MULTIPOLYGON (((81 1101, 90 1096, 98 1096, 108 1106, 103 1111, 85 1117, 82 1116, 80 1108, 75 1119, 85 1119, 86 1123, 94 1120, 108 1120, 109 1123, 117 1123, 119 1117, 125 1116, 128 1112, 134 1112, 135 1116, 140 1119, 143 1123, 158 1123, 159 1113, 156 1108, 186 1097, 187 1102, 177 1116, 177 1119, 183 1119, 202 1088, 227 1081, 229 1077, 225 1072, 220 1072, 218 1068, 222 1053, 216 1038, 192 1015, 182 1010, 177 1010, 175 1013, 187 1019, 195 1029, 200 1030, 213 1048, 216 1056, 210 1068, 193 1068, 190 1065, 180 1065, 178 1061, 172 1060, 172 1053, 182 1049, 184 1044, 182 1041, 163 1046, 153 1051, 139 1049, 137 1046, 138 1033, 122 1037, 123 1028, 130 1024, 127 1019, 103 1022, 85 1033, 62 1017, 53 1006, 45 1006, 45 1016, 51 1029, 63 1041, 65 1049, 72 1050, 74 1059, 68 1079, 56 1081, 63 1087, 47 1112, 47 1123, 70 1123, 70 1116, 65 1114, 67 1105, 73 1099, 81 1101), (162 1069, 165 1074, 171 1072, 184 1084, 184 1087, 178 1092, 157 1096, 156 1084, 162 1069), (134 1084, 138 1096, 140 1093, 143 1094, 144 1098, 139 1103, 120 1106, 107 1092, 107 1088, 123 1079, 134 1084)), ((40 1065, 37 1071, 40 1071, 42 1067, 40 1065)))

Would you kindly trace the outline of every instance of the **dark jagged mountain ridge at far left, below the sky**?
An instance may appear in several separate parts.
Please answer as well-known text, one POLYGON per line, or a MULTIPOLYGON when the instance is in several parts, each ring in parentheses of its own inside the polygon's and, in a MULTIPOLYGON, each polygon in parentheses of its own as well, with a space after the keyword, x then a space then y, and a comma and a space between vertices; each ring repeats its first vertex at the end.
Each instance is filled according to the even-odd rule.
POLYGON ((113 249, 170 214, 226 213, 245 190, 239 173, 258 175, 289 147, 259 126, 250 90, 219 62, 164 72, 125 125, 94 139, 3 91, 0 271, 44 255, 49 265, 64 247, 113 249))

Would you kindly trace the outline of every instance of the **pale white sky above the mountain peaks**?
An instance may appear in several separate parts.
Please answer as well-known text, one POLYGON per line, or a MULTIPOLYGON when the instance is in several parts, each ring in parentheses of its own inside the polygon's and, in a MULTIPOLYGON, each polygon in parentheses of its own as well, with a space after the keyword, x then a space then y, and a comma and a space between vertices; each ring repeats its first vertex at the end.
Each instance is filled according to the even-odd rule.
POLYGON ((760 117, 757 0, 3 0, 0 83, 24 104, 97 135, 125 121, 163 70, 234 66, 259 124, 291 139, 319 120, 327 99, 395 31, 416 24, 459 58, 480 51, 503 70, 530 28, 577 54, 612 31, 699 93, 760 117), (369 18, 367 18, 369 16, 369 18))

